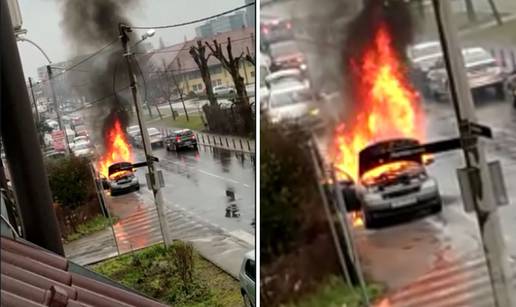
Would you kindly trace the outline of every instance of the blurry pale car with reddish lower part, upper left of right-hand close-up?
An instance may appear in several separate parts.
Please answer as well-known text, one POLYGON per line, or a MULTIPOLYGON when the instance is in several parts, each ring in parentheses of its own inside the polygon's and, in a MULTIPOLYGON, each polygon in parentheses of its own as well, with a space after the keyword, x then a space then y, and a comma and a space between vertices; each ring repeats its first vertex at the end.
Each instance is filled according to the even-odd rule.
POLYGON ((307 69, 305 55, 301 52, 296 41, 290 40, 274 43, 270 45, 269 49, 272 57, 272 71, 287 68, 307 69))

